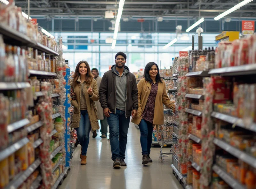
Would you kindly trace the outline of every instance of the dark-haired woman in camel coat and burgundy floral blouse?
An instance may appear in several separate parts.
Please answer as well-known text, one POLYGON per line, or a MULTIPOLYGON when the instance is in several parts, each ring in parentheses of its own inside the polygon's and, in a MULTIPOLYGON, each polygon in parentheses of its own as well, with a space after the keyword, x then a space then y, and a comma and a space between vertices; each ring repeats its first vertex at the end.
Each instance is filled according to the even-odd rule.
POLYGON ((138 112, 132 123, 140 127, 140 145, 142 148, 142 164, 153 162, 150 158, 152 132, 154 125, 164 124, 164 107, 174 110, 175 105, 166 93, 164 80, 160 77, 158 65, 149 62, 144 70, 144 78, 138 85, 138 112))

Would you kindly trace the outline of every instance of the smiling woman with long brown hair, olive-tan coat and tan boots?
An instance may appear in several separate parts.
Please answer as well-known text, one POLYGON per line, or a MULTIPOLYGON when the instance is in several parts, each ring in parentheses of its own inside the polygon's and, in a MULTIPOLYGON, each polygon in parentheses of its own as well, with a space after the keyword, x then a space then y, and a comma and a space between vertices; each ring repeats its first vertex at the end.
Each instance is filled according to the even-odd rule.
POLYGON ((100 128, 95 105, 99 100, 99 93, 97 81, 93 79, 88 62, 80 61, 76 65, 73 78, 70 83, 71 103, 74 106, 71 127, 76 129, 77 138, 82 146, 81 165, 85 165, 90 131, 100 128))

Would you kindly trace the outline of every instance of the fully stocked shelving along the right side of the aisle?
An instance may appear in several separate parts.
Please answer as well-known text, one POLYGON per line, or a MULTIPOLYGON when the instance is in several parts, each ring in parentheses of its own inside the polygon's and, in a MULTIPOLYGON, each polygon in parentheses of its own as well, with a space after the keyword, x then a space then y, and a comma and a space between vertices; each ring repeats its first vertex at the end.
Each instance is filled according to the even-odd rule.
MULTIPOLYGON (((212 52, 214 60, 204 64, 191 53, 189 82, 183 85, 188 86, 188 117, 180 119, 189 125, 186 185, 256 188, 256 36, 220 42, 212 52)), ((181 144, 178 150, 183 149, 181 144)))

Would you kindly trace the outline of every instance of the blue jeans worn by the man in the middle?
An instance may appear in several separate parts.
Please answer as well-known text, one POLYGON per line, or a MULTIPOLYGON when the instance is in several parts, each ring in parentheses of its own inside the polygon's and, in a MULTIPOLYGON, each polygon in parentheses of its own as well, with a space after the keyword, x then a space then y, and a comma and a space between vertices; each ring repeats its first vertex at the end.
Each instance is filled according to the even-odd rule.
POLYGON ((127 144, 127 133, 130 124, 130 117, 125 117, 125 111, 116 109, 116 114, 110 113, 108 126, 110 133, 110 145, 112 160, 116 158, 125 159, 125 149, 127 144))

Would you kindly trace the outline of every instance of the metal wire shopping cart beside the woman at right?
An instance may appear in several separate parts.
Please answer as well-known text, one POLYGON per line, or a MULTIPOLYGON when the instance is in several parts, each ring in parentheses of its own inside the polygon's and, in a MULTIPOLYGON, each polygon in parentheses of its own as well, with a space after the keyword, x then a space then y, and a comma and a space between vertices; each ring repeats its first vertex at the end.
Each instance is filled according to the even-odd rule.
POLYGON ((164 125, 156 125, 156 137, 161 146, 159 159, 163 163, 163 157, 172 154, 172 150, 168 153, 163 152, 165 145, 177 144, 177 138, 173 136, 173 119, 175 114, 171 109, 164 109, 164 125))

